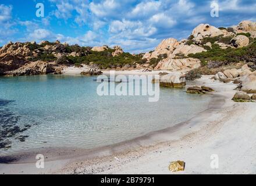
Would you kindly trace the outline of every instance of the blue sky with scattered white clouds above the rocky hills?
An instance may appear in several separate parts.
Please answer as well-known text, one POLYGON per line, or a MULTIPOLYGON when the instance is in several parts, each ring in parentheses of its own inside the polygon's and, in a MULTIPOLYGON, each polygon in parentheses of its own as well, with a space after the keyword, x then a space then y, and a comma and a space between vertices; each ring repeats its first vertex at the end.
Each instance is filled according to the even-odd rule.
POLYGON ((187 38, 200 23, 227 27, 241 20, 256 21, 255 0, 0 0, 0 45, 60 40, 139 53, 164 38, 187 38), (219 17, 211 17, 212 2, 219 17), (37 3, 44 17, 35 16, 37 3))

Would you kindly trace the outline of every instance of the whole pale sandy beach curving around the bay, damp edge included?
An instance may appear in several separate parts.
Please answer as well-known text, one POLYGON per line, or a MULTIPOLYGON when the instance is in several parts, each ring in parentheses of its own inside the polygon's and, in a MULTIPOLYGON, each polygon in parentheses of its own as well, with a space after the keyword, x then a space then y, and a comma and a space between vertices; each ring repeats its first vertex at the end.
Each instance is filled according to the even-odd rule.
MULTIPOLYGON (((134 72, 133 72, 134 73, 134 72)), ((165 130, 98 149, 37 149, 6 157, 0 174, 173 174, 169 163, 186 162, 175 174, 256 173, 255 103, 236 103, 233 83, 223 84, 203 76, 193 84, 214 88, 204 112, 165 130), (47 154, 45 168, 35 168, 35 155, 47 154), (219 168, 212 169, 211 155, 219 168), (13 160, 12 160, 13 159, 13 160)))

